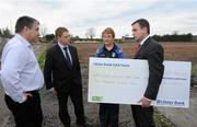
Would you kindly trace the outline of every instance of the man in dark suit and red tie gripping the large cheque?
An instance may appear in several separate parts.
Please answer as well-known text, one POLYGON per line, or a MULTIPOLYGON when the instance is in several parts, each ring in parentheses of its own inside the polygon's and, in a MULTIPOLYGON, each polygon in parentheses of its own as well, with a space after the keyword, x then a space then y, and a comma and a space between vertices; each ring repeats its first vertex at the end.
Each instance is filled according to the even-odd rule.
POLYGON ((139 19, 132 24, 132 35, 139 42, 138 53, 135 59, 147 59, 149 65, 149 79, 146 92, 140 105, 131 105, 136 127, 154 127, 153 106, 151 101, 157 99, 158 91, 163 78, 164 66, 163 47, 149 36, 150 25, 144 19, 139 19))

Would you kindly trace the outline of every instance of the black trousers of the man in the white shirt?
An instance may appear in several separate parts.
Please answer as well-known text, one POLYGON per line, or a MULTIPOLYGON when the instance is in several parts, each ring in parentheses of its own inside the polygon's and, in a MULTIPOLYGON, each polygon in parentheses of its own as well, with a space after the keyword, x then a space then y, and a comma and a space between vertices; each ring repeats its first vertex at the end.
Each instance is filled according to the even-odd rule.
POLYGON ((16 127, 42 127, 40 96, 38 92, 32 92, 32 95, 23 103, 14 102, 10 96, 4 95, 4 101, 14 116, 16 127))

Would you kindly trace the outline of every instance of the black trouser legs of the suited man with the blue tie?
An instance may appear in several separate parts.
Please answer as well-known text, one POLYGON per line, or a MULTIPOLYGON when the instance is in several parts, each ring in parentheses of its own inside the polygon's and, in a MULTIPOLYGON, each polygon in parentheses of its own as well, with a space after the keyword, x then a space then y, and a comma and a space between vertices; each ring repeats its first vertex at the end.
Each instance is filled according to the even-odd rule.
POLYGON ((74 114, 77 117, 77 124, 84 124, 84 108, 83 108, 83 96, 82 86, 73 86, 70 89, 69 93, 58 92, 57 97, 59 102, 59 118, 65 127, 70 127, 70 116, 68 114, 67 102, 70 96, 71 102, 74 107, 74 114))

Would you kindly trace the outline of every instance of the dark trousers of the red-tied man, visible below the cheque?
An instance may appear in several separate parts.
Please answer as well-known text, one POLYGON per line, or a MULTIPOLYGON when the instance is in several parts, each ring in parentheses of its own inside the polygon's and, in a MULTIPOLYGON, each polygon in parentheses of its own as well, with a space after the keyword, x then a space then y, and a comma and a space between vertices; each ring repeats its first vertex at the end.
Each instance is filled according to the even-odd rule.
POLYGON ((131 105, 131 111, 136 127, 155 127, 153 106, 141 107, 140 105, 131 105))

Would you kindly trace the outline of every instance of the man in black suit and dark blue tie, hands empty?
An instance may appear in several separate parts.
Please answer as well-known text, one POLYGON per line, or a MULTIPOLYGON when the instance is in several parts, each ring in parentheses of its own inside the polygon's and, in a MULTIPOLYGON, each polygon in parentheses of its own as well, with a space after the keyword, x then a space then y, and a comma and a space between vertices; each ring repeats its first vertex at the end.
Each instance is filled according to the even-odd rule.
POLYGON ((46 54, 44 68, 45 83, 49 91, 57 93, 59 117, 65 127, 70 127, 67 102, 70 96, 74 106, 78 127, 90 127, 85 122, 80 62, 77 48, 70 45, 70 34, 66 27, 56 30, 57 44, 46 54))

